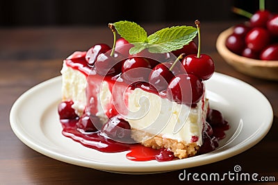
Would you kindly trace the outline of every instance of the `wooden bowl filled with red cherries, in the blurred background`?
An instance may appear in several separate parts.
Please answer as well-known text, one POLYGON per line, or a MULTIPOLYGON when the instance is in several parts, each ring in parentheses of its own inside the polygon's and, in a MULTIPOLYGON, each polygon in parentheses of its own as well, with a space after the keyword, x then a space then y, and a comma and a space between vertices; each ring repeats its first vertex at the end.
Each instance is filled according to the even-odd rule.
POLYGON ((234 8, 248 21, 224 30, 216 49, 236 70, 256 78, 278 80, 278 14, 261 6, 254 14, 234 8))

